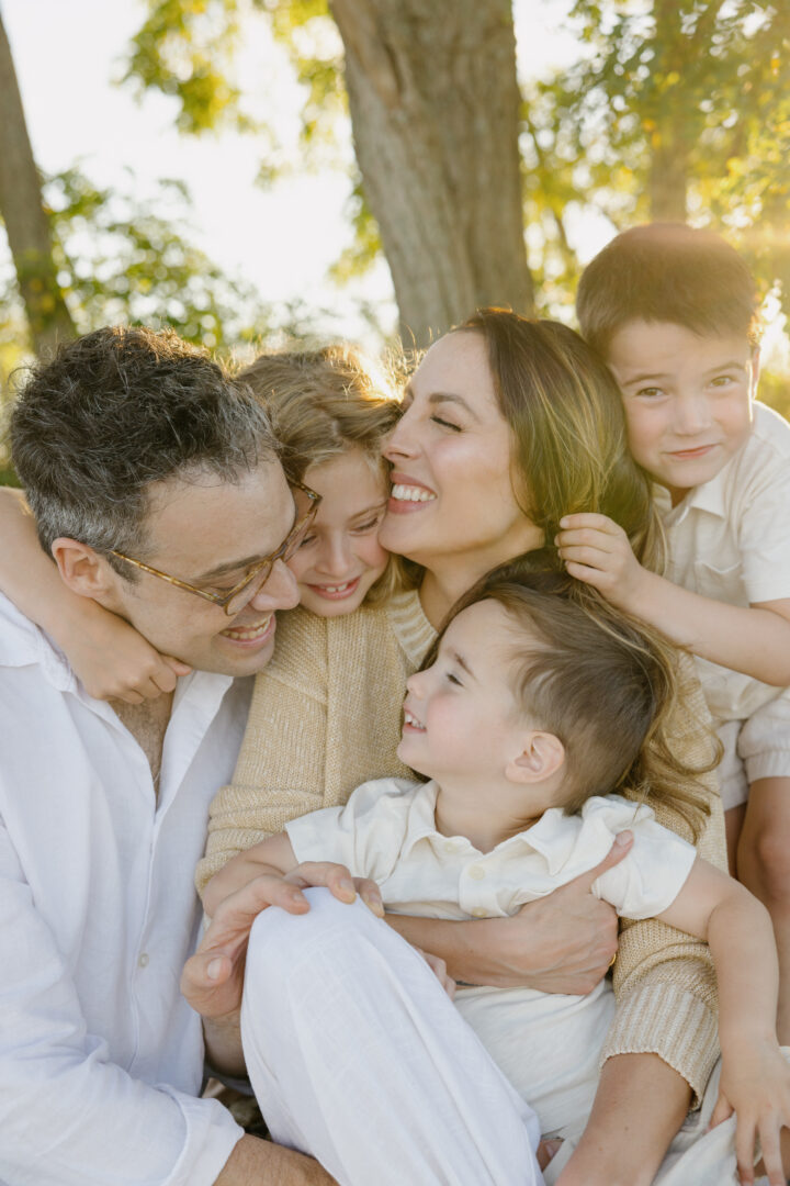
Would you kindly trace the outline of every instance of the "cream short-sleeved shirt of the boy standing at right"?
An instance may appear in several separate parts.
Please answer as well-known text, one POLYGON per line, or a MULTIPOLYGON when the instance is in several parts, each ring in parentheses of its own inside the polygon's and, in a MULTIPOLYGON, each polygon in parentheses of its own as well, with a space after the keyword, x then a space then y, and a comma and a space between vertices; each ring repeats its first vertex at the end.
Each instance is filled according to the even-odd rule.
MULTIPOLYGON (((654 497, 675 585, 728 605, 790 598, 790 425, 778 413, 754 403, 749 439, 715 478, 674 508, 661 486, 654 497)), ((696 668, 717 721, 746 720, 783 691, 708 659, 696 668)))

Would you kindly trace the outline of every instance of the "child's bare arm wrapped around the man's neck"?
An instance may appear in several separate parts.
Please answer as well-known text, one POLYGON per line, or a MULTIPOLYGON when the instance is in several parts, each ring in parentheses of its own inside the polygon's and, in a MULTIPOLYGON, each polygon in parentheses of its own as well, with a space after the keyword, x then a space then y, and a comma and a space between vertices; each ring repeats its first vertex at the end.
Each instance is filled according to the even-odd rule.
POLYGON ((98 700, 139 703, 172 691, 191 668, 162 656, 142 635, 98 601, 73 593, 41 549, 21 491, 0 487, 0 589, 38 623, 98 700))

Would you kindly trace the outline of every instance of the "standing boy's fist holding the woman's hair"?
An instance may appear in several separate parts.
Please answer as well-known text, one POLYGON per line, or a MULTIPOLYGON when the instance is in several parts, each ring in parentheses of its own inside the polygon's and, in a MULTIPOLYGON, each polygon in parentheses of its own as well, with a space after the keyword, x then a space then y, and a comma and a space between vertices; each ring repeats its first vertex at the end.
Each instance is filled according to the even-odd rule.
POLYGON ((605 515, 566 515, 554 537, 570 576, 593 585, 621 610, 637 612, 650 573, 642 568, 622 527, 605 515))

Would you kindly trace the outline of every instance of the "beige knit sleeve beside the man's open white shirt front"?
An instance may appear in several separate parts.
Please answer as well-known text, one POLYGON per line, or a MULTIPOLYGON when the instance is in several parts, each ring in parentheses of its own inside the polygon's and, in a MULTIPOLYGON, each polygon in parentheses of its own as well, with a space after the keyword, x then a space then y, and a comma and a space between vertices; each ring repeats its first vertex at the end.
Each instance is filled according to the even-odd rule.
POLYGON ((233 780, 211 804, 195 885, 237 853, 325 806, 327 621, 302 610, 278 621, 277 650, 258 674, 233 780))

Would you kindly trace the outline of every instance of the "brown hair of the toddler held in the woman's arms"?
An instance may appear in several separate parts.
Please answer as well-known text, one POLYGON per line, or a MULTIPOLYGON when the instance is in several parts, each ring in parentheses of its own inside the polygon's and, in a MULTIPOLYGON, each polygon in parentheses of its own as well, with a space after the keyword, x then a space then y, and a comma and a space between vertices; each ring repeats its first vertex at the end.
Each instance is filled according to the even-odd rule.
POLYGON ((675 649, 548 563, 548 553, 535 553, 489 573, 456 602, 442 632, 479 601, 507 612, 512 691, 519 710, 563 742, 566 812, 617 791, 664 804, 696 837, 709 804, 695 779, 717 754, 711 739, 711 761, 692 769, 673 752, 668 721, 682 700, 675 649))

